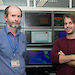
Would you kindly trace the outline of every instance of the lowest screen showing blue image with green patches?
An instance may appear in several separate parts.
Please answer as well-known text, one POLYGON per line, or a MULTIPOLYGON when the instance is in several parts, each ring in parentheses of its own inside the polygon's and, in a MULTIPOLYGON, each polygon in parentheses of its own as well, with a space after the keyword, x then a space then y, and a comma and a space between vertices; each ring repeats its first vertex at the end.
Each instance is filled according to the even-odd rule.
POLYGON ((28 51, 29 65, 48 65, 52 64, 50 59, 51 51, 28 51))

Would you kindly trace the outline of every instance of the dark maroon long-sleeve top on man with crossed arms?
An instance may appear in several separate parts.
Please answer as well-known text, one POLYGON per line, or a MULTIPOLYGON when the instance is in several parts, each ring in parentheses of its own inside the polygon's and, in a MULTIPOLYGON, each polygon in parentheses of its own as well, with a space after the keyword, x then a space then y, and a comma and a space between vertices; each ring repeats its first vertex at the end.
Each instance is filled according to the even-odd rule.
POLYGON ((75 54, 75 39, 59 38, 57 39, 51 51, 51 61, 56 64, 56 75, 75 75, 75 67, 71 67, 66 63, 59 63, 58 52, 62 51, 66 55, 75 54))

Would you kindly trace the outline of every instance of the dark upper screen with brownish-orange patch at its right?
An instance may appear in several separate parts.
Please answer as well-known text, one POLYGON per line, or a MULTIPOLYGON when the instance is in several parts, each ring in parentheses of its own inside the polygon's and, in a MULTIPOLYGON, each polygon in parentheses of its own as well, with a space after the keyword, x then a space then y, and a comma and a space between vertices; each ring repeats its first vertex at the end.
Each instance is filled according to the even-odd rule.
POLYGON ((25 12, 25 26, 49 28, 51 26, 51 13, 25 12))

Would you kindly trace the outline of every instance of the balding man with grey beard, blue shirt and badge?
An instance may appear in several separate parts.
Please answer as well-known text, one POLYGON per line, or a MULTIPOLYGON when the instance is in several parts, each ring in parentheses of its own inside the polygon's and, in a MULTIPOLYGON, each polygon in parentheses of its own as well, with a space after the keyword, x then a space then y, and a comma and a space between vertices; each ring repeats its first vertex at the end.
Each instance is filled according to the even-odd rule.
POLYGON ((0 75, 26 75, 26 38, 19 30, 21 17, 19 7, 6 7, 6 27, 0 30, 0 75))

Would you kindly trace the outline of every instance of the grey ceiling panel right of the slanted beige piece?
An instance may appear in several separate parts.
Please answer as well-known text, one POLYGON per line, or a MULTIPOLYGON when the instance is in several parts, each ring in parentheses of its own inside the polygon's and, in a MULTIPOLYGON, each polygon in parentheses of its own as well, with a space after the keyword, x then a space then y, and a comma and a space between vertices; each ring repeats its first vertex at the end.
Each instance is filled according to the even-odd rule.
POLYGON ((42 7, 69 7, 69 0, 47 0, 42 7))

